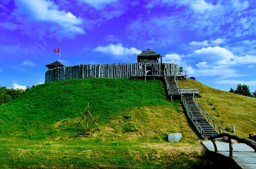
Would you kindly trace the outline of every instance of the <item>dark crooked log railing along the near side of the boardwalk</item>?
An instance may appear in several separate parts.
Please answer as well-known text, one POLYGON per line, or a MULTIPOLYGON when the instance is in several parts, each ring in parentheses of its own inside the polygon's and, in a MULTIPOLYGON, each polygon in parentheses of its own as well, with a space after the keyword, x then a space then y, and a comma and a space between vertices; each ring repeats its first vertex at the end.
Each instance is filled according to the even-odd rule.
POLYGON ((223 136, 227 136, 228 137, 228 143, 229 143, 229 157, 233 157, 233 144, 232 144, 232 140, 231 139, 236 139, 239 143, 244 143, 248 146, 250 146, 255 152, 256 152, 256 142, 249 139, 249 138, 244 138, 241 137, 239 135, 232 135, 229 133, 221 133, 215 136, 210 136, 211 142, 212 144, 214 144, 214 149, 215 152, 218 152, 218 148, 215 142, 216 138, 221 138, 223 136))

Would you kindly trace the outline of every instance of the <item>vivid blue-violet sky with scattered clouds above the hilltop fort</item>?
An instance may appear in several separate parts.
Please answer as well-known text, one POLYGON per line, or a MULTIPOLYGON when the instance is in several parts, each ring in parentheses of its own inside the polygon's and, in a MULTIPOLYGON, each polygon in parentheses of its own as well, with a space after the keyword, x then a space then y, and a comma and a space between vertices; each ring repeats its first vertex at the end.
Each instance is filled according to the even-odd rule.
POLYGON ((66 66, 136 63, 150 48, 205 85, 254 92, 255 22, 242 0, 0 0, 0 86, 44 82, 56 48, 66 66))

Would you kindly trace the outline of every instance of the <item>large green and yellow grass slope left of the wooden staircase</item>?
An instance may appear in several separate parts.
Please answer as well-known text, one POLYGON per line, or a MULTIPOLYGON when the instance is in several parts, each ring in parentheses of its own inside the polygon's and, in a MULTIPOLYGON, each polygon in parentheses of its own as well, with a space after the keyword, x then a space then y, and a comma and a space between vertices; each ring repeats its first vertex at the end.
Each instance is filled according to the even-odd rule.
MULTIPOLYGON (((204 168, 209 163, 179 102, 161 81, 70 79, 39 85, 0 106, 0 168, 204 168), (87 103, 99 116, 78 138, 87 103), (132 115, 132 119, 123 117, 132 115), (181 132, 179 143, 166 142, 181 132)), ((84 123, 83 123, 84 124, 84 123)), ((85 124, 84 124, 85 125, 85 124)))

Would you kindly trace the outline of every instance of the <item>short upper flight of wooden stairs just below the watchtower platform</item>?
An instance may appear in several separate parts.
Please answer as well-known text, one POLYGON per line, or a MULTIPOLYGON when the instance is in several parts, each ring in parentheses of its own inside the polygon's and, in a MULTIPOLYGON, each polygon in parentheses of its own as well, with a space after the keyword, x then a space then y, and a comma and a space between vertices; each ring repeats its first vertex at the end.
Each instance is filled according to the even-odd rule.
POLYGON ((180 90, 177 82, 178 79, 175 76, 164 76, 164 79, 170 99, 172 100, 173 97, 180 99, 180 90))

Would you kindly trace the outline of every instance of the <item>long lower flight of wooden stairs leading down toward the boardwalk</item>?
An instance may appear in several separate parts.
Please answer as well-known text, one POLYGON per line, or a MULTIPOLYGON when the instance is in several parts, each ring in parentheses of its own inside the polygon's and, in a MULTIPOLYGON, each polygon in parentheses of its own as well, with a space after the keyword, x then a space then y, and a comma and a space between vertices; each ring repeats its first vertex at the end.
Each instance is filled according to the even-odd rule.
POLYGON ((193 96, 182 95, 183 105, 186 108, 188 117, 196 126, 197 130, 201 134, 202 139, 208 139, 210 136, 219 134, 218 131, 213 127, 201 113, 199 107, 193 99, 193 96))

